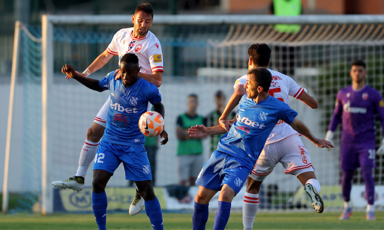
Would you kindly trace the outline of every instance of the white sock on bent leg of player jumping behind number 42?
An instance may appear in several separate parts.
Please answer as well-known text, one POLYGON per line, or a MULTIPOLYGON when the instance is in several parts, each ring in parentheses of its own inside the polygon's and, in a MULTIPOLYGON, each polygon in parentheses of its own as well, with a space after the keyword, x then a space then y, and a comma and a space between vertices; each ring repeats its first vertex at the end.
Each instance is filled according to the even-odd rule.
POLYGON ((80 158, 79 158, 79 167, 75 176, 82 176, 85 178, 89 165, 95 158, 99 142, 92 142, 85 140, 83 147, 81 147, 80 158))

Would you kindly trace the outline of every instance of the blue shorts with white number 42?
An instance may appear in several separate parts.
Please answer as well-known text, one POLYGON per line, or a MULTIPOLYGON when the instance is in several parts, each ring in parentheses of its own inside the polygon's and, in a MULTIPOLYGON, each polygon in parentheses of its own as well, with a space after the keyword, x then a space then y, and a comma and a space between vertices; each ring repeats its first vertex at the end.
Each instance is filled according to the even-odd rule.
POLYGON ((103 169, 111 172, 123 164, 125 179, 132 181, 152 180, 147 152, 143 148, 118 145, 101 141, 94 159, 93 170, 103 169))

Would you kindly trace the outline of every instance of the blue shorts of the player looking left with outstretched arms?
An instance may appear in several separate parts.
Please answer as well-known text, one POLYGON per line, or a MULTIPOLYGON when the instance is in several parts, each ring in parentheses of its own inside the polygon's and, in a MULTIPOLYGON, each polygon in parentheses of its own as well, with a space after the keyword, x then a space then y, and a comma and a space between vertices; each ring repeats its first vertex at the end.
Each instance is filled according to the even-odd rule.
POLYGON ((197 176, 196 184, 215 191, 220 191, 227 184, 237 194, 247 181, 254 163, 215 150, 197 176))

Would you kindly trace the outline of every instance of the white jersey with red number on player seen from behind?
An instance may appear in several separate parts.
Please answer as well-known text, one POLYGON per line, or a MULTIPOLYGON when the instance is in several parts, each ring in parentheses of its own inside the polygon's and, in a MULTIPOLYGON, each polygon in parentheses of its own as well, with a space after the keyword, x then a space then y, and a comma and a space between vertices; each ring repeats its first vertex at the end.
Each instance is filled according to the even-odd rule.
MULTIPOLYGON (((289 105, 288 95, 298 99, 298 97, 300 97, 300 95, 304 92, 303 88, 301 88, 300 85, 298 85, 291 77, 271 69, 268 69, 268 71, 272 74, 272 82, 269 88, 269 94, 272 97, 275 97, 289 105)), ((235 85, 233 85, 233 88, 236 88, 238 85, 244 86, 245 83, 247 83, 247 78, 248 75, 238 78, 235 85)), ((297 132, 290 125, 282 120, 279 120, 268 136, 265 145, 280 141, 295 133, 297 132)))

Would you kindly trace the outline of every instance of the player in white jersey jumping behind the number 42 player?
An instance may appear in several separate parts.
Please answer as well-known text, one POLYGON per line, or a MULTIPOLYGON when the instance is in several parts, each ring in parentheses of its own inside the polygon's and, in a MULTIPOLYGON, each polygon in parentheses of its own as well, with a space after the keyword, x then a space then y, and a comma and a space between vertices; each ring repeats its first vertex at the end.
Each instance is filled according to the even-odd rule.
MULTIPOLYGON (((162 83, 163 61, 162 50, 159 39, 149 31, 153 23, 153 8, 149 3, 142 3, 136 7, 134 15, 132 15, 131 28, 119 30, 112 38, 111 43, 81 74, 88 77, 90 74, 98 71, 103 67, 114 55, 119 56, 119 64, 122 56, 126 53, 134 53, 139 58, 140 72, 139 77, 160 87, 162 83)), ((118 71, 116 71, 118 72, 118 71)), ((67 79, 69 76, 67 76, 67 79)), ((119 74, 116 75, 116 79, 119 74)), ((93 162, 99 141, 103 136, 109 104, 109 97, 100 109, 92 126, 87 130, 85 144, 81 148, 79 166, 74 177, 66 181, 54 181, 52 185, 61 189, 73 189, 81 191, 84 187, 84 177, 88 171, 89 165, 93 162)), ((144 207, 144 200, 141 194, 136 190, 135 199, 129 208, 129 214, 136 215, 144 207)))

